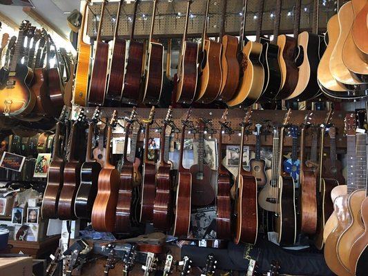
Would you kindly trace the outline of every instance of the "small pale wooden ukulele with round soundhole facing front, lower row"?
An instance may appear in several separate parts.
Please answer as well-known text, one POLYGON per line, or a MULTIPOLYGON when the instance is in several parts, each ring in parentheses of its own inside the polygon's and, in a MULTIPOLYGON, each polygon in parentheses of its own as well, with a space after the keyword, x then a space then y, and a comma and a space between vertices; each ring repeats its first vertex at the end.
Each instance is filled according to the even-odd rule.
POLYGON ((267 184, 266 161, 261 159, 261 124, 255 125, 255 158, 249 160, 249 166, 253 177, 257 179, 257 185, 263 187, 267 184))

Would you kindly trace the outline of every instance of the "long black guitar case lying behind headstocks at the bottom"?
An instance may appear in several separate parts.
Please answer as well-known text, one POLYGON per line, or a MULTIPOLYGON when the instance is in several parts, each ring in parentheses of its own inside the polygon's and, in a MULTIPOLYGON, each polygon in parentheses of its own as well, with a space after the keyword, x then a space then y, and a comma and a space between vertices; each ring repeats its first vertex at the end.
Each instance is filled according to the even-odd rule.
POLYGON ((206 266, 206 257, 215 255, 217 267, 223 270, 246 271, 249 259, 258 262, 258 272, 267 273, 273 260, 280 263, 280 274, 287 275, 334 275, 329 270, 323 253, 316 249, 288 250, 264 239, 258 239, 255 246, 251 244, 229 243, 226 249, 204 248, 185 245, 181 257, 188 256, 193 266, 206 266))

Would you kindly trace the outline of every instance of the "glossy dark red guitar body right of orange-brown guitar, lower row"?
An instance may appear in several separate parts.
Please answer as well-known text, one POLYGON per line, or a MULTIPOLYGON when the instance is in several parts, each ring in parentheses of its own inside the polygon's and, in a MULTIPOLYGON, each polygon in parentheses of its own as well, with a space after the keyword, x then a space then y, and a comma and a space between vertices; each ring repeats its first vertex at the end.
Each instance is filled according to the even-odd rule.
POLYGON ((133 166, 126 164, 120 172, 119 196, 115 215, 115 232, 130 230, 130 210, 132 204, 133 166))

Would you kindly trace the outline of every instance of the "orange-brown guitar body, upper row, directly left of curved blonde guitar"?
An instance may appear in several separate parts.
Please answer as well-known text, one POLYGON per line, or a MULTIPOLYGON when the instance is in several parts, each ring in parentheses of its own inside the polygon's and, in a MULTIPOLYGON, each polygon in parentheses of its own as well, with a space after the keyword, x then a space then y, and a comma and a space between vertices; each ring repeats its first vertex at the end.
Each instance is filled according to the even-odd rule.
POLYGON ((240 79, 240 65, 236 54, 238 52, 238 37, 224 35, 222 37, 222 83, 219 101, 230 101, 235 95, 240 79))

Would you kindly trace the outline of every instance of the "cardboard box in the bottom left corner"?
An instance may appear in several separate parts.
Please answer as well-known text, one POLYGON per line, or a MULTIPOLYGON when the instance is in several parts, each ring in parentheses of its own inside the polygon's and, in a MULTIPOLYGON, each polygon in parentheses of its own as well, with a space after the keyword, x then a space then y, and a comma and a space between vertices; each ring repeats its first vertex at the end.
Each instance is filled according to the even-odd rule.
POLYGON ((0 275, 32 276, 32 257, 0 258, 0 275))

